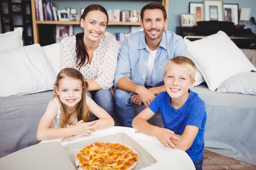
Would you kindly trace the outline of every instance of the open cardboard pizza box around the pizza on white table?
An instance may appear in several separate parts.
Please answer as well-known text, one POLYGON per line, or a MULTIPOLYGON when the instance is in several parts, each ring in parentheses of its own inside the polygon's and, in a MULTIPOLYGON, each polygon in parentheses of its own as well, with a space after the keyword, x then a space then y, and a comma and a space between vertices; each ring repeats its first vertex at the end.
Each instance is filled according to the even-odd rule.
POLYGON ((77 170, 75 155, 81 148, 97 141, 126 144, 137 151, 139 161, 132 170, 157 170, 157 160, 125 133, 117 133, 74 142, 45 142, 29 146, 0 158, 0 170, 77 170))

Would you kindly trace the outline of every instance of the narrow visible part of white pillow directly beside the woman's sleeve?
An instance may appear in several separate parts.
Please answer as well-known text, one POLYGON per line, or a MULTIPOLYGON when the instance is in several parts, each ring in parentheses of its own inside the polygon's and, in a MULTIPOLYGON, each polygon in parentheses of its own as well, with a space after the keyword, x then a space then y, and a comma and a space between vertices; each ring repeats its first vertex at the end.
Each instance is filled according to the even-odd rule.
POLYGON ((60 42, 42 46, 45 56, 49 61, 56 77, 61 71, 60 69, 60 42))

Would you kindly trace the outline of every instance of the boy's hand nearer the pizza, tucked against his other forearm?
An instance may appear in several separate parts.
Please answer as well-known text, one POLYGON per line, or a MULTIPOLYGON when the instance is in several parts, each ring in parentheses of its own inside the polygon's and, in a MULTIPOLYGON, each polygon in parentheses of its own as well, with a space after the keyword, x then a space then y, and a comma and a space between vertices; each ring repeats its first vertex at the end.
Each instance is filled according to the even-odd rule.
POLYGON ((159 142, 166 148, 178 148, 175 144, 173 144, 173 142, 171 141, 171 138, 177 141, 180 141, 180 138, 175 136, 175 132, 169 129, 159 128, 155 137, 157 137, 159 142))

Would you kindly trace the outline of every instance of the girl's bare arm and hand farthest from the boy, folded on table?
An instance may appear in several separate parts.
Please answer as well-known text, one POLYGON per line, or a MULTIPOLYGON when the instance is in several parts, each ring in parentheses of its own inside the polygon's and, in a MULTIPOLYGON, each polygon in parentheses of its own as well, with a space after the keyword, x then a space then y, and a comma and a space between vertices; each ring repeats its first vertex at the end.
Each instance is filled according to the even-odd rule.
POLYGON ((51 128, 52 122, 57 113, 58 106, 54 99, 52 99, 38 124, 36 138, 39 141, 69 137, 72 135, 89 136, 90 133, 95 132, 95 130, 92 129, 100 126, 99 124, 96 124, 96 121, 83 122, 83 120, 81 120, 76 125, 70 126, 69 128, 51 128))

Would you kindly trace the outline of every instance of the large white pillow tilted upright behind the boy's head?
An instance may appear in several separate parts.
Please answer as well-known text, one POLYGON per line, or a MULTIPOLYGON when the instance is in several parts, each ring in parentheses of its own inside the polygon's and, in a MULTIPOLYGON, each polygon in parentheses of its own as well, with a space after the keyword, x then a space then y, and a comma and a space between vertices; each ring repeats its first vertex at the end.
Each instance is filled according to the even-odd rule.
POLYGON ((233 75, 256 70, 223 31, 195 40, 188 44, 187 49, 211 91, 233 75))

